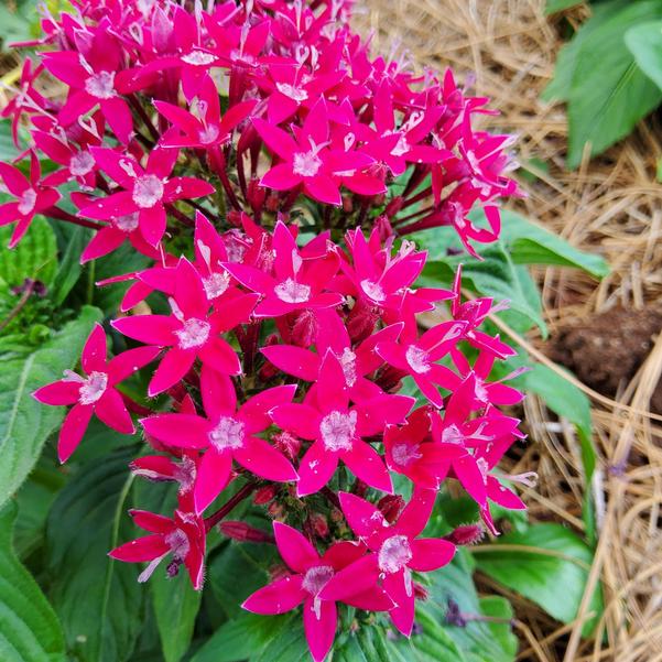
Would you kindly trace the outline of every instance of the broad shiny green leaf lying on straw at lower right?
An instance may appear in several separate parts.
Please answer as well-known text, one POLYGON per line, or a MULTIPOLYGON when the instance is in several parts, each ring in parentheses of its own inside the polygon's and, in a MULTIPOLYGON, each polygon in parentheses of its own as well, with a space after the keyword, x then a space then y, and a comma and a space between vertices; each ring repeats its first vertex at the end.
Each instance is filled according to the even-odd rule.
MULTIPOLYGON (((524 532, 500 536, 489 547, 476 547, 474 557, 478 569, 540 605, 556 620, 568 623, 577 617, 593 552, 568 529, 534 524, 524 532)), ((593 631, 603 611, 599 589, 589 611, 594 616, 584 625, 584 636, 593 631)))

